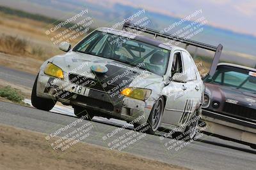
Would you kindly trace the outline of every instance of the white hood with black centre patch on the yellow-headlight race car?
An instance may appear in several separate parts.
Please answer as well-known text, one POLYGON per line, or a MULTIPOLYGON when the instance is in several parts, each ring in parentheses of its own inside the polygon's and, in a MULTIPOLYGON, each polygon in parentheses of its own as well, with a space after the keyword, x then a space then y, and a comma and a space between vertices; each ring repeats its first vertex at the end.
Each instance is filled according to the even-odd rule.
POLYGON ((163 77, 157 74, 116 60, 105 59, 86 53, 68 52, 64 55, 52 57, 47 62, 52 62, 56 66, 61 67, 65 73, 85 74, 87 77, 93 77, 92 71, 90 70, 91 66, 106 66, 108 67, 108 72, 97 74, 97 78, 100 81, 104 80, 114 85, 125 83, 125 86, 131 84, 132 87, 147 88, 163 81, 163 77))

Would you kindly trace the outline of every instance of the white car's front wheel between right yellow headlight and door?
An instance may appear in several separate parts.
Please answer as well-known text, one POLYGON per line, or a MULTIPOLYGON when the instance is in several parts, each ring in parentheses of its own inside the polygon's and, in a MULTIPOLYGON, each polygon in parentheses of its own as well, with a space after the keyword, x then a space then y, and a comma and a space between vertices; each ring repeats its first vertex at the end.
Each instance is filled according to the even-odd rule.
POLYGON ((155 134, 155 132, 157 131, 160 125, 160 120, 163 115, 163 110, 164 110, 164 99, 163 97, 160 97, 154 104, 150 112, 150 115, 148 117, 147 123, 143 125, 134 124, 134 130, 145 132, 147 134, 155 134))

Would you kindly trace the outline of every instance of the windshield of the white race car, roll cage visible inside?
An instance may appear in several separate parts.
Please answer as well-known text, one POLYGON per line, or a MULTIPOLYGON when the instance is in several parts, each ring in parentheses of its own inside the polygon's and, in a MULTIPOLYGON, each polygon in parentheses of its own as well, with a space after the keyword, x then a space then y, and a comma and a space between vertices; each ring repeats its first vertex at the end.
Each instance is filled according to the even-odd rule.
POLYGON ((166 73, 170 51, 136 39, 95 31, 84 38, 73 51, 118 60, 163 76, 166 73), (143 64, 141 64, 143 63, 143 64))

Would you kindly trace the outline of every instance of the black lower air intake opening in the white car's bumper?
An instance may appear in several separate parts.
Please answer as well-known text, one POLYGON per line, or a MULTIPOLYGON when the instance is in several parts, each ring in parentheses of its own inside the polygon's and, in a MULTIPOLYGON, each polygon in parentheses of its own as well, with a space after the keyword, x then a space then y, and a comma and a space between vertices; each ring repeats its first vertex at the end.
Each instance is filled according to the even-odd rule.
POLYGON ((113 104, 106 102, 106 101, 100 101, 98 99, 93 99, 92 97, 85 97, 78 95, 76 98, 76 101, 80 101, 81 103, 86 103, 89 106, 97 107, 104 110, 113 111, 114 106, 113 104))

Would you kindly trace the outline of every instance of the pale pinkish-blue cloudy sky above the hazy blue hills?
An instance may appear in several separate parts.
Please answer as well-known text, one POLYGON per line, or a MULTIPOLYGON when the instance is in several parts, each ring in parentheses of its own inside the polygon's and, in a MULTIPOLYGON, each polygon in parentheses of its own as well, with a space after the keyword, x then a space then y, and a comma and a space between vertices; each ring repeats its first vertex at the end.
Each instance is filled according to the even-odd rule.
POLYGON ((203 10, 209 25, 256 36, 255 0, 89 0, 91 3, 121 3, 174 17, 203 10))

